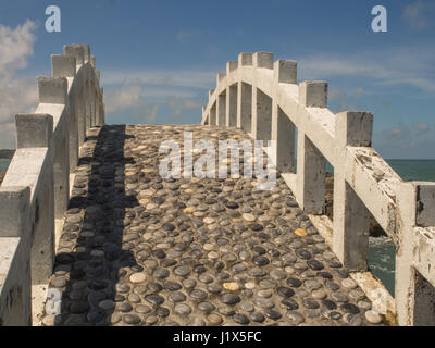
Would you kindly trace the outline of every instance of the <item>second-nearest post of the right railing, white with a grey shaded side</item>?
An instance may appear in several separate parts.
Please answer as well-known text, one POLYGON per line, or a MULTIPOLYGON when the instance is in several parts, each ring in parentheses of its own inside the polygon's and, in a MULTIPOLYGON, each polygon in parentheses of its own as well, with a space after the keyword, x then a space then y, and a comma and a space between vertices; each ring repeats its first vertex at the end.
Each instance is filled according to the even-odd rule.
POLYGON ((351 271, 366 271, 370 212, 345 179, 346 147, 370 147, 373 114, 346 111, 335 116, 336 157, 334 167, 333 246, 341 263, 351 271))

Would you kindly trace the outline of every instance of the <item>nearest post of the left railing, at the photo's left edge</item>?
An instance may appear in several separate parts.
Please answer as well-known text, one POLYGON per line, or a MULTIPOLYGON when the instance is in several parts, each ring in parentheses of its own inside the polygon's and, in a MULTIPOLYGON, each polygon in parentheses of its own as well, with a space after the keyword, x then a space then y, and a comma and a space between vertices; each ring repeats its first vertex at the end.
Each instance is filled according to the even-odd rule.
POLYGON ((2 263, 9 264, 0 275, 4 276, 0 282, 2 326, 32 325, 29 202, 29 187, 0 187, 2 263))

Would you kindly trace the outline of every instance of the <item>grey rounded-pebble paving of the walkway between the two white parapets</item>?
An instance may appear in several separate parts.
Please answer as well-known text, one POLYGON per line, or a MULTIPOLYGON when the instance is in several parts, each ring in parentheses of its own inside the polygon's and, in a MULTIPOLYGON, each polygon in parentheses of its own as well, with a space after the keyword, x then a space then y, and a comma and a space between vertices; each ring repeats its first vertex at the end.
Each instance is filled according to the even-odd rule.
POLYGON ((184 130, 249 139, 90 129, 50 281, 61 314, 44 325, 382 325, 279 175, 262 191, 241 176, 162 179, 159 146, 184 130))

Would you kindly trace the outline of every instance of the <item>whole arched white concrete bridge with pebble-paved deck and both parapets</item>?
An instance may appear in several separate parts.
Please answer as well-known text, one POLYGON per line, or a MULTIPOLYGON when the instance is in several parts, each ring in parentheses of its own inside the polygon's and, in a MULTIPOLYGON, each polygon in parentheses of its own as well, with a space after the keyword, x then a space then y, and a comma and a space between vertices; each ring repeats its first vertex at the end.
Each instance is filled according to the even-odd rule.
POLYGON ((51 62, 0 187, 1 325, 435 325, 435 185, 403 182, 373 115, 331 112, 327 83, 240 53, 202 125, 107 126, 89 46, 51 62), (159 144, 184 130, 275 140, 277 187, 162 179, 159 144), (370 215, 397 247, 394 298, 368 270, 370 215))

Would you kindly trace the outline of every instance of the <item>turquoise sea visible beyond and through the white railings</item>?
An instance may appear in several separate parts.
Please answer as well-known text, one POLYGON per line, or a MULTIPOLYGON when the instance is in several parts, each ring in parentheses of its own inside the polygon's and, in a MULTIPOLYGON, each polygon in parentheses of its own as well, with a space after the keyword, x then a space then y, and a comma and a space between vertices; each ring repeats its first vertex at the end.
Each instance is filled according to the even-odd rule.
MULTIPOLYGON (((386 160, 403 181, 435 182, 435 160, 386 160)), ((0 172, 7 170, 10 160, 0 159, 0 172)), ((332 167, 327 167, 332 172, 332 167)), ((369 266, 394 295, 395 246, 386 237, 370 238, 369 266)))

